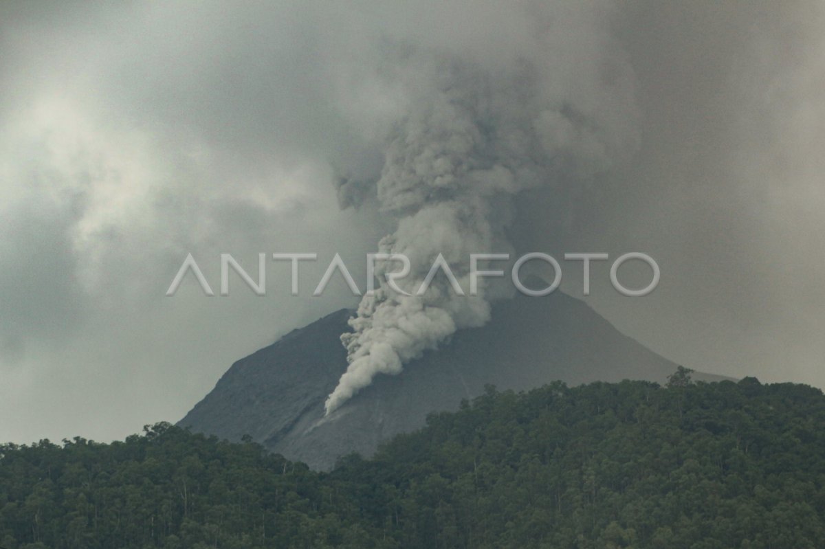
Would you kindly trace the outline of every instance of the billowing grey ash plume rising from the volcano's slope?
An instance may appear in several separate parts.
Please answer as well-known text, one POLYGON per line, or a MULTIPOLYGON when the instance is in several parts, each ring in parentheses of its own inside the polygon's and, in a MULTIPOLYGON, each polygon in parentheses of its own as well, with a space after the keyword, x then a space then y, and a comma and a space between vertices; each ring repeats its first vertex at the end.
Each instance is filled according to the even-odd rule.
POLYGON ((609 16, 593 4, 530 7, 518 15, 526 47, 504 62, 439 45, 389 48, 386 85, 408 101, 387 121, 380 173, 343 177, 338 192, 345 206, 377 204, 398 219, 379 251, 408 256, 411 270, 398 293, 384 279, 398 265, 379 265, 380 288, 342 336, 349 366, 328 414, 376 375, 398 374, 455 331, 488 321, 495 296, 483 280, 473 297, 438 276, 424 295, 405 294, 416 293, 439 254, 466 292, 471 253, 512 250, 516 194, 586 183, 634 151, 634 77, 610 40, 609 16), (576 33, 587 40, 570 40, 576 33))

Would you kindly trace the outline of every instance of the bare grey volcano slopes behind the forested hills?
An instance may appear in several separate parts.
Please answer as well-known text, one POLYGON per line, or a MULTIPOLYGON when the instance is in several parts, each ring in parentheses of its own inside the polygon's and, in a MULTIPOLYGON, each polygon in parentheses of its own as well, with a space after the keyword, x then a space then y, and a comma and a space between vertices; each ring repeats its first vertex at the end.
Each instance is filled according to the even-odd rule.
POLYGON ((398 376, 375 378, 324 417, 324 401, 347 368, 339 337, 350 315, 333 312, 238 360, 179 425, 230 440, 249 434, 286 458, 328 469, 343 454, 369 456, 382 440, 422 427, 431 411, 455 410, 488 383, 521 390, 557 379, 664 382, 676 370, 582 301, 560 292, 520 295, 495 304, 486 326, 456 333, 398 376))

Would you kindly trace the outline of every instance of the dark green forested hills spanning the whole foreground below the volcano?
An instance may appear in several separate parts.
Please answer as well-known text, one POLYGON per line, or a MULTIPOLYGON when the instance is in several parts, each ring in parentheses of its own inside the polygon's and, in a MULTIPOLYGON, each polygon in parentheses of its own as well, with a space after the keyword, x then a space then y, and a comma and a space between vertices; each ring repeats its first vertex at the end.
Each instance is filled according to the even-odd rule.
POLYGON ((753 378, 491 388, 330 473, 167 424, 0 456, 8 549, 825 547, 825 397, 753 378))

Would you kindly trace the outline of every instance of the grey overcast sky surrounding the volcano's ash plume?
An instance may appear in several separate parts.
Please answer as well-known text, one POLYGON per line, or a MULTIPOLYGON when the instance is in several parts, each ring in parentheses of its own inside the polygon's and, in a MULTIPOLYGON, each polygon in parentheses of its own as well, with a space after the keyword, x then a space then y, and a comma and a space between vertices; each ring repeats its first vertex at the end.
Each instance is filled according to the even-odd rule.
MULTIPOLYGON (((632 124, 615 166, 517 199, 516 251, 647 252, 646 298, 593 266, 587 301, 621 331, 690 368, 825 387, 825 5, 549 4, 548 66, 576 82, 609 44, 632 124)), ((177 421, 234 360, 354 307, 340 280, 311 289, 335 252, 363 279, 394 230, 333 185, 375 169, 417 86, 387 51, 545 55, 523 40, 531 2, 237 6, 0 7, 0 440, 177 421), (278 263, 265 297, 193 279, 164 297, 190 252, 217 290, 220 253, 252 270, 291 251, 321 259, 299 297, 278 263)), ((580 277, 564 265, 576 297, 580 277)))

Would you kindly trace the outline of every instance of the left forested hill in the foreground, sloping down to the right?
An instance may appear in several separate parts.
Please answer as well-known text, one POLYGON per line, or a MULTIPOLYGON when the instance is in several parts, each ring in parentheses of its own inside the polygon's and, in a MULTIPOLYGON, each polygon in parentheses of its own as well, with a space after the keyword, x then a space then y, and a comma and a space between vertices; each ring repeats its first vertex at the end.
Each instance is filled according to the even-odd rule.
POLYGON ((302 463, 169 424, 100 444, 0 446, 0 545, 397 547, 302 463))

